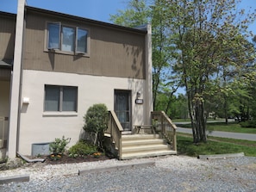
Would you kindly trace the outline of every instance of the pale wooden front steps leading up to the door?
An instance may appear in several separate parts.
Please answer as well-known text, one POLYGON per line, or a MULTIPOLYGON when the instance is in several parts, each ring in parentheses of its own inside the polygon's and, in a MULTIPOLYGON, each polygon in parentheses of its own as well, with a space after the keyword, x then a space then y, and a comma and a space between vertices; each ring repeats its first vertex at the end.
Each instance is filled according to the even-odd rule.
POLYGON ((122 135, 122 155, 120 159, 147 158, 177 154, 170 150, 158 134, 122 135))

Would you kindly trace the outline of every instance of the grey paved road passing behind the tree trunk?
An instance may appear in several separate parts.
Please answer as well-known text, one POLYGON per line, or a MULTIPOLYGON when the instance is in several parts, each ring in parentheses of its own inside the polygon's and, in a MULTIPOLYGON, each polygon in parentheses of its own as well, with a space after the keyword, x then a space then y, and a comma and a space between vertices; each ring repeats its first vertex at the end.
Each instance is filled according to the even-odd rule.
MULTIPOLYGON (((192 133, 191 128, 177 127, 180 133, 192 133)), ((232 139, 244 139, 256 141, 256 134, 248 133, 230 133, 230 132, 218 132, 218 131, 207 131, 209 136, 221 137, 221 138, 232 138, 232 139)))

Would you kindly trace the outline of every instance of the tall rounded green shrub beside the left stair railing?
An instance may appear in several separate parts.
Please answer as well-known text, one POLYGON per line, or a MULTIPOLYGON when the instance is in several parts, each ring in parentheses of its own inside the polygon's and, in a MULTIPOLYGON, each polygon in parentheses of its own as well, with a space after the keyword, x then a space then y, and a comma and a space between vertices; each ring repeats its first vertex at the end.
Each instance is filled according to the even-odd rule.
POLYGON ((84 115, 84 131, 91 134, 92 142, 103 150, 104 132, 108 128, 108 109, 105 104, 94 104, 84 115))

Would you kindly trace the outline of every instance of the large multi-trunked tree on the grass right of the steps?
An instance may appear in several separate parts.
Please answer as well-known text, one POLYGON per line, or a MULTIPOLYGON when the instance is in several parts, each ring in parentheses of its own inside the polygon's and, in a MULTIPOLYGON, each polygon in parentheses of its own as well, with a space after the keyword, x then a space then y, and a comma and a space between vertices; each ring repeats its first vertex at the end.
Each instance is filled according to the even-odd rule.
MULTIPOLYGON (((253 59, 247 44, 247 24, 255 15, 244 17, 236 12, 236 0, 166 0, 161 1, 172 28, 172 46, 176 47, 175 71, 182 77, 194 142, 206 141, 207 99, 218 92, 233 92, 243 70, 253 59), (225 85, 226 71, 234 73, 225 85)), ((231 77, 231 75, 230 75, 231 77)))

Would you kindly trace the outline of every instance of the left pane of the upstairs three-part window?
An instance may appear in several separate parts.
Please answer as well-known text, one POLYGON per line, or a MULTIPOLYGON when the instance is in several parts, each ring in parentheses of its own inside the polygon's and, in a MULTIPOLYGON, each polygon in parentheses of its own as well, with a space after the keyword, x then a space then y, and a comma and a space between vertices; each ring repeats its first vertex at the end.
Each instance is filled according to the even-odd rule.
POLYGON ((59 49, 59 23, 48 23, 48 48, 59 49))

